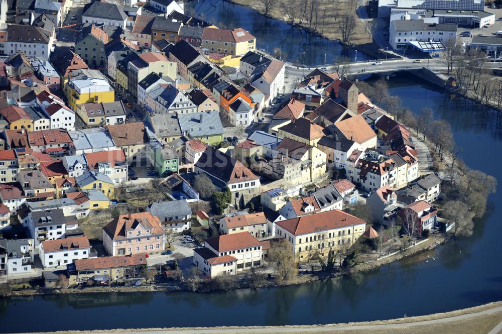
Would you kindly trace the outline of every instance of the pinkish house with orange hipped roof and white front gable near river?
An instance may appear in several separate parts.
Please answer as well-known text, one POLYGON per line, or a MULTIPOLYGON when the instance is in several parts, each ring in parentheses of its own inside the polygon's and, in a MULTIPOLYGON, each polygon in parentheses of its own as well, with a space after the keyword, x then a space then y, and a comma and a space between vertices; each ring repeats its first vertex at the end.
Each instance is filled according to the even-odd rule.
POLYGON ((166 234, 150 212, 121 214, 103 228, 103 245, 111 256, 160 253, 166 234))

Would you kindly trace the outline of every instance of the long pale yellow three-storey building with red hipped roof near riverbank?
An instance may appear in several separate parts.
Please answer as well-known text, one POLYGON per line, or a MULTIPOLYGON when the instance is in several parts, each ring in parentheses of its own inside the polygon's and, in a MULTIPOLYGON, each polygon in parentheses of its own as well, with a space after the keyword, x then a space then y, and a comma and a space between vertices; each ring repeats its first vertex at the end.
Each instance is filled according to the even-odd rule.
POLYGON ((293 245, 298 262, 326 258, 351 247, 365 231, 366 221, 339 209, 276 221, 276 237, 293 245))

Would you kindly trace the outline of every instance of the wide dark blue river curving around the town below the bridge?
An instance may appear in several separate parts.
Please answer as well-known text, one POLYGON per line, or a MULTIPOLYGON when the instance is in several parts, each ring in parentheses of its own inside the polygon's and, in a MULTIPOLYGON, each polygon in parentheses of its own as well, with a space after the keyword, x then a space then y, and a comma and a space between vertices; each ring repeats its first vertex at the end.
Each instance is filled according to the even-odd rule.
MULTIPOLYGON (((465 163, 502 177, 494 113, 410 74, 389 81, 414 112, 445 119, 465 163)), ((0 332, 215 325, 313 324, 449 311, 502 299, 501 182, 474 234, 365 274, 301 286, 228 293, 112 293, 0 299, 0 332), (495 205, 498 203, 498 205, 495 205), (22 321, 21 319, 29 319, 22 321)))

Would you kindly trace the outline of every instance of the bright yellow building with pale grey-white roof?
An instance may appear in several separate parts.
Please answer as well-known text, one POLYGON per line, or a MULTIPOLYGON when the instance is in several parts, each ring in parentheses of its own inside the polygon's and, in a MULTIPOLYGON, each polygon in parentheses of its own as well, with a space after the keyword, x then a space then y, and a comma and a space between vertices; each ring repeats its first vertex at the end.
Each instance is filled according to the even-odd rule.
POLYGON ((97 70, 81 69, 66 85, 68 104, 76 112, 83 103, 113 102, 115 91, 97 70))

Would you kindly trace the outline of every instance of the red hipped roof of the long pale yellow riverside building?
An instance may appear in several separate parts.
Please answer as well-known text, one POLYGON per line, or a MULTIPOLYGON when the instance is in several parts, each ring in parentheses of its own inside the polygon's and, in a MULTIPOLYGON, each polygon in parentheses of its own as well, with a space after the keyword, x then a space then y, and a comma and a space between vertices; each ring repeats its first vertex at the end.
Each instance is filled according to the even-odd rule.
POLYGON ((276 221, 278 226, 294 236, 316 233, 317 231, 340 229, 365 223, 366 221, 339 209, 276 221))

